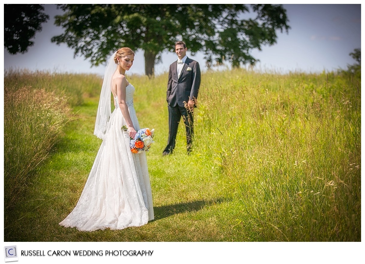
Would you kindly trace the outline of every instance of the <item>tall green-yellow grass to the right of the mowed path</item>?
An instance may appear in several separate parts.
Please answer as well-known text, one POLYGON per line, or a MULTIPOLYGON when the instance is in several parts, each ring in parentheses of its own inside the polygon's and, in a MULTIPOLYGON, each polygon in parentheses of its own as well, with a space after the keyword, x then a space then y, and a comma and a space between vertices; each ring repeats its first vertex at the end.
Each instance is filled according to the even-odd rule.
MULTIPOLYGON (((214 73, 196 143, 242 202, 260 241, 361 236, 360 80, 334 74, 214 73)), ((250 223, 250 224, 248 224, 250 223)))

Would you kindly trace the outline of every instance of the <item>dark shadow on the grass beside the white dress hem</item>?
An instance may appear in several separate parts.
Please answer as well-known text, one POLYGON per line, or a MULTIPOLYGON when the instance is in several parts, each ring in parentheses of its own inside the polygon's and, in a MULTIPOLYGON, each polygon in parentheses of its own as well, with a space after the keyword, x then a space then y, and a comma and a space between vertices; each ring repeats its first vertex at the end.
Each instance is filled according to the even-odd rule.
POLYGON ((205 206, 215 205, 227 201, 227 199, 216 198, 207 200, 199 200, 186 203, 176 203, 173 205, 164 205, 153 207, 155 218, 153 221, 172 216, 174 214, 180 214, 184 212, 193 212, 203 209, 205 206))

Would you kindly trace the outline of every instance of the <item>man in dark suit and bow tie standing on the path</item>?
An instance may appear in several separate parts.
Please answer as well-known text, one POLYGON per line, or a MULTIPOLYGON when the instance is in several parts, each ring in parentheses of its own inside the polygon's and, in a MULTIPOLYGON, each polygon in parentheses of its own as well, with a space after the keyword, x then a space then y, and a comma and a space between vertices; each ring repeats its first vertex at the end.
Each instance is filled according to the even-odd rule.
POLYGON ((169 139, 162 155, 171 154, 175 148, 177 127, 181 116, 186 129, 188 154, 192 147, 193 111, 200 86, 200 68, 198 62, 186 56, 187 50, 183 41, 175 43, 178 60, 170 65, 166 98, 169 110, 169 139))

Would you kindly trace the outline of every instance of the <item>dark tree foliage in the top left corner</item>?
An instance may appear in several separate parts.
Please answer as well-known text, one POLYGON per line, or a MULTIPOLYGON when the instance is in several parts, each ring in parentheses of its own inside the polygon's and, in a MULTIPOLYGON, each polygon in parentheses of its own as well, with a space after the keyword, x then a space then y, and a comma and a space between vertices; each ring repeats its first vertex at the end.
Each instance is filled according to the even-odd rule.
POLYGON ((49 19, 39 4, 4 4, 4 47, 9 53, 26 53, 41 24, 49 19))

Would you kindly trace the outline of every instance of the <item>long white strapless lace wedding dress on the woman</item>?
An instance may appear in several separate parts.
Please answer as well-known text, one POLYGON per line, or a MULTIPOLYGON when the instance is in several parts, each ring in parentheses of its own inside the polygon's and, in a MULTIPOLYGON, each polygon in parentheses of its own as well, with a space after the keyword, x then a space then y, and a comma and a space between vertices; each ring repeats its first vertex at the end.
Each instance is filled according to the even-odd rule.
MULTIPOLYGON (((136 131, 140 129, 133 106, 134 87, 126 87, 126 103, 136 131)), ((81 231, 124 229, 154 219, 146 153, 130 151, 127 125, 114 97, 110 116, 89 178, 73 211, 59 223, 81 231)))

